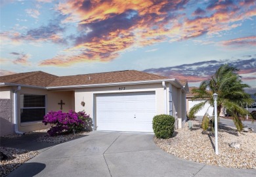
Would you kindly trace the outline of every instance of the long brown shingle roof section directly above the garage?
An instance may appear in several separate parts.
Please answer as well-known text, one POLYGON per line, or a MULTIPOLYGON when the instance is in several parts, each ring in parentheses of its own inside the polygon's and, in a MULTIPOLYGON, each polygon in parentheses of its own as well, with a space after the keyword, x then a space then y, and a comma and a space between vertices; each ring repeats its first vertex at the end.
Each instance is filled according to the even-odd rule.
POLYGON ((50 83, 48 87, 149 81, 158 79, 167 79, 167 77, 162 77, 160 75, 154 75, 151 73, 144 73, 141 71, 127 70, 58 77, 52 83, 50 83))

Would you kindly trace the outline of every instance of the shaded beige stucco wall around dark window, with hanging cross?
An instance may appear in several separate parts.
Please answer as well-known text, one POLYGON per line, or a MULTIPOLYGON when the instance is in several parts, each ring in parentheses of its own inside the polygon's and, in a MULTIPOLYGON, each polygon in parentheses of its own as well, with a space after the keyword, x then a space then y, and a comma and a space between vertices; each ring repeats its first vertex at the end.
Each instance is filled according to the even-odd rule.
MULTIPOLYGON (((62 106, 62 111, 67 112, 70 109, 74 110, 74 91, 49 91, 37 88, 25 88, 18 92, 18 103, 20 102, 20 94, 42 94, 46 95, 46 112, 60 110, 58 103, 62 100, 65 105, 62 106)), ((13 116, 14 117, 14 116, 13 116)), ((14 118, 13 118, 14 119, 14 118)), ((40 130, 46 128, 41 121, 34 121, 28 123, 20 123, 20 106, 18 106, 18 130, 20 132, 30 132, 33 130, 40 130)))

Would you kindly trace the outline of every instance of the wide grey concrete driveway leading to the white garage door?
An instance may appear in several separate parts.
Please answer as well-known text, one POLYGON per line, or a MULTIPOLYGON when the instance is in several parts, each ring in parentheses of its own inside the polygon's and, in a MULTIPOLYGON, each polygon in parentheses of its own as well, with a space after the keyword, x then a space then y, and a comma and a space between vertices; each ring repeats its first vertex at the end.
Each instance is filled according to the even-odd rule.
POLYGON ((180 159, 157 147, 153 137, 154 134, 91 132, 41 151, 9 176, 256 176, 256 170, 180 159))

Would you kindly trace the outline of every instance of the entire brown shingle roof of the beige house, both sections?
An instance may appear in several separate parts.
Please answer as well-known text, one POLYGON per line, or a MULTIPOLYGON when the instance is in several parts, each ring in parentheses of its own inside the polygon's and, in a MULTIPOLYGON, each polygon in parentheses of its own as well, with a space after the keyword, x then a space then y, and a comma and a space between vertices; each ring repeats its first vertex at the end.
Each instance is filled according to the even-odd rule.
POLYGON ((39 87, 58 87, 70 85, 93 85, 103 83, 121 83, 133 81, 150 81, 168 79, 152 73, 142 71, 126 70, 106 73, 91 73, 84 75, 70 75, 58 77, 43 71, 28 73, 17 73, 0 77, 0 83, 14 83, 20 85, 32 85, 39 87))

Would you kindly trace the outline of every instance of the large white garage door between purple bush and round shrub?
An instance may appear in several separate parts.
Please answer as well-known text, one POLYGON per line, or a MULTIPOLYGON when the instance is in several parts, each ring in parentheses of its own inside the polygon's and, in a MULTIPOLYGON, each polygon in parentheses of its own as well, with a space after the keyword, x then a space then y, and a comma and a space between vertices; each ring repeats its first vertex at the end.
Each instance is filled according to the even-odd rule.
POLYGON ((96 130, 153 132, 155 92, 99 94, 96 96, 96 130))

